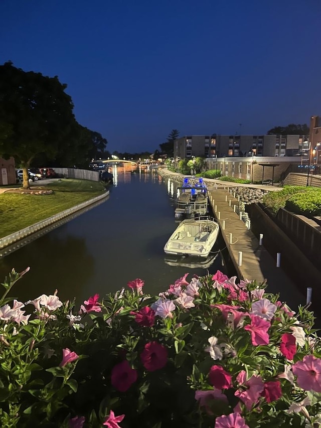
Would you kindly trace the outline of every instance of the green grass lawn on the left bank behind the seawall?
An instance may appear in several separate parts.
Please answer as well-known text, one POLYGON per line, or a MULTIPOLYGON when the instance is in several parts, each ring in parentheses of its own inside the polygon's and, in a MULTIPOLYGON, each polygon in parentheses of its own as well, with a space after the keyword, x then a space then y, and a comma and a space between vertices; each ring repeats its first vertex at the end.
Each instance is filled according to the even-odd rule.
POLYGON ((0 194, 0 238, 101 195, 105 190, 101 183, 75 179, 59 179, 43 186, 37 183, 37 186, 31 186, 31 189, 34 188, 53 190, 54 193, 0 194))

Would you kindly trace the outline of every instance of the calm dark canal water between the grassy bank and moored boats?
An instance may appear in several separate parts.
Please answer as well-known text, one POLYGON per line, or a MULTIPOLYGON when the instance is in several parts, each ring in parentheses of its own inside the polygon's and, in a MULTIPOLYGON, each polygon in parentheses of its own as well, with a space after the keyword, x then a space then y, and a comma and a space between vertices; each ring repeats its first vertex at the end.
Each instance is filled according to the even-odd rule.
POLYGON ((62 300, 76 298, 80 304, 95 293, 116 292, 135 278, 145 281, 146 293, 158 294, 187 272, 188 278, 218 269, 234 274, 222 265, 221 239, 209 266, 191 267, 193 259, 177 264, 165 257, 164 245, 177 227, 177 183, 155 171, 133 174, 118 167, 112 172, 114 184, 105 202, 0 259, 0 282, 12 268, 31 267, 12 296, 25 302, 58 289, 62 300))

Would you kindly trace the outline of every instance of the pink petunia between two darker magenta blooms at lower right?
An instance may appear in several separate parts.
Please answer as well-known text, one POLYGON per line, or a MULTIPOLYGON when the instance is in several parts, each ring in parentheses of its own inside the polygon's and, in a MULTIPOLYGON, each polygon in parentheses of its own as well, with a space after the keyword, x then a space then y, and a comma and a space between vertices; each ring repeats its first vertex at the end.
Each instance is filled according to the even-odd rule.
POLYGON ((236 380, 240 384, 240 389, 234 395, 243 401, 248 410, 251 410, 252 405, 257 402, 264 389, 262 378, 253 375, 249 380, 246 380, 246 372, 242 370, 237 375, 236 380))

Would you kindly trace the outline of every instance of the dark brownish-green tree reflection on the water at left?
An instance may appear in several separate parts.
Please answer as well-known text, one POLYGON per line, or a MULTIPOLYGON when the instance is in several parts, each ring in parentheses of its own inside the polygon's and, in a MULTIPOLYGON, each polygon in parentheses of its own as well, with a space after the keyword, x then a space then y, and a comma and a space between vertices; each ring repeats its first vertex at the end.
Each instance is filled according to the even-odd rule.
POLYGON ((63 300, 82 294, 82 289, 94 272, 95 260, 89 254, 85 239, 68 235, 67 225, 56 233, 48 233, 0 260, 0 277, 3 279, 15 268, 20 272, 31 266, 13 288, 11 295, 27 301, 41 294, 59 290, 63 300), (85 269, 80 266, 86 266, 85 269))

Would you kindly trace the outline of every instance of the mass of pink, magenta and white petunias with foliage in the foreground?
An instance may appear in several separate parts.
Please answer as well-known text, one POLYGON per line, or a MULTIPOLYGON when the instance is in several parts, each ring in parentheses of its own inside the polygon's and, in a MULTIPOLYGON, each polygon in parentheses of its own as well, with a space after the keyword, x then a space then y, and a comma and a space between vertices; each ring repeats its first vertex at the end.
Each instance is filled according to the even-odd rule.
POLYGON ((159 296, 137 278, 79 307, 56 293, 10 305, 27 271, 2 284, 1 426, 320 426, 313 314, 266 284, 218 271, 159 296))

